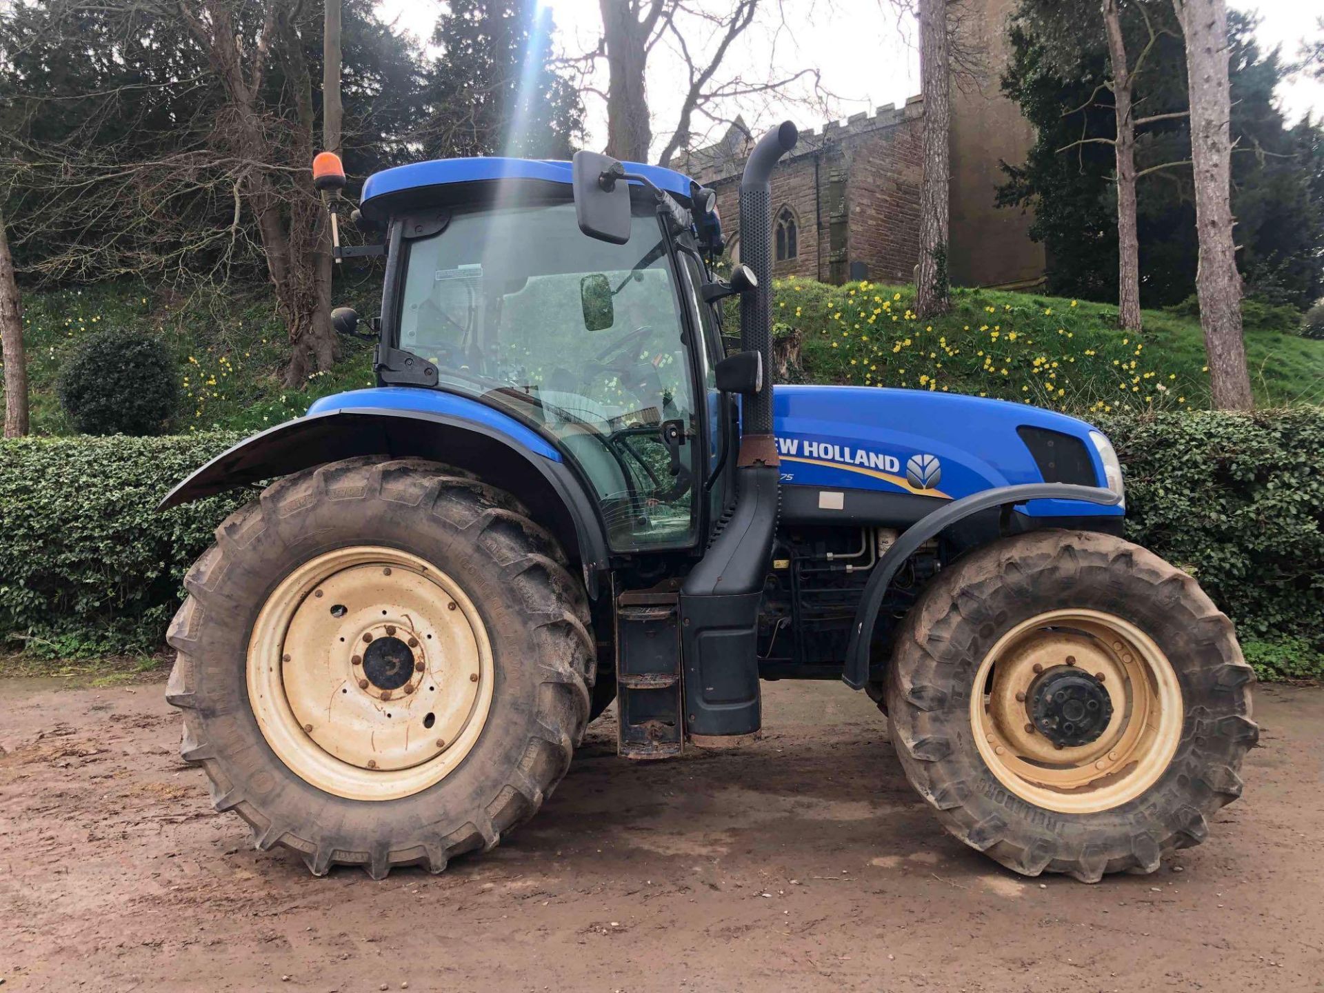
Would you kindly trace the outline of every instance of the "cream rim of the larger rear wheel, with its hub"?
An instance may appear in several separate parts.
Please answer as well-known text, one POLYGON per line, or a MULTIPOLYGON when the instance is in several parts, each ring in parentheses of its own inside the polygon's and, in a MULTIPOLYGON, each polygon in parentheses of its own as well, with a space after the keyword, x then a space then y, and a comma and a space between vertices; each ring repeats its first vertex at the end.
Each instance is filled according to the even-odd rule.
POLYGON ((355 545, 299 565, 249 639, 249 706, 306 782, 351 800, 424 790, 465 759, 491 708, 487 629, 446 573, 355 545))

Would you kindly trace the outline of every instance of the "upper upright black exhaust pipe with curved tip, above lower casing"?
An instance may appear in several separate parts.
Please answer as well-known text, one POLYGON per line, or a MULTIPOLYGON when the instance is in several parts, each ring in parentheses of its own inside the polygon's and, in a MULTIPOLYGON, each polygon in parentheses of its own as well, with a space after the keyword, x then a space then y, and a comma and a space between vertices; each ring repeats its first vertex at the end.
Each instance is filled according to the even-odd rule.
POLYGON ((740 180, 740 261, 759 279, 759 289, 740 299, 740 338, 745 351, 763 356, 763 389, 743 409, 741 466, 779 463, 772 434, 772 169, 798 139, 789 120, 772 128, 753 147, 740 180))

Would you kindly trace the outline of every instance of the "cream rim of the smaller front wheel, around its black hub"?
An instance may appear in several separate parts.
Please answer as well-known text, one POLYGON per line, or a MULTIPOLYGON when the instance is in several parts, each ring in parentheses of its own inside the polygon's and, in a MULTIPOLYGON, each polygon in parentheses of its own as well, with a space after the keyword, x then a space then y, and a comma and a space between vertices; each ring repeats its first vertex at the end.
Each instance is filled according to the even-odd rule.
POLYGON ((984 764, 1019 798, 1064 814, 1111 810, 1149 789, 1177 752, 1184 716, 1168 657, 1100 610, 1051 610, 1016 625, 984 657, 970 694, 984 764), (1111 715, 1092 740, 1057 745, 1033 706, 1045 674, 1071 670, 1107 694, 1095 703, 1111 715))

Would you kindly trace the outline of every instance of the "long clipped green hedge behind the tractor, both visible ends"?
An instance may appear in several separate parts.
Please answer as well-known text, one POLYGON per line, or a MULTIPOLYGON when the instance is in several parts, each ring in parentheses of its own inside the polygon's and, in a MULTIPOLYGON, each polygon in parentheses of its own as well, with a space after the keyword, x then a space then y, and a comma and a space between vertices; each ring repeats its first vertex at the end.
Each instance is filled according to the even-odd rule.
MULTIPOLYGON (((1324 410, 1099 420, 1125 465, 1132 540, 1200 579, 1263 674, 1317 669, 1324 410), (1291 658, 1274 663, 1275 645, 1291 658)), ((236 438, 0 442, 0 636, 48 655, 158 647, 184 571, 241 496, 154 507, 236 438)))

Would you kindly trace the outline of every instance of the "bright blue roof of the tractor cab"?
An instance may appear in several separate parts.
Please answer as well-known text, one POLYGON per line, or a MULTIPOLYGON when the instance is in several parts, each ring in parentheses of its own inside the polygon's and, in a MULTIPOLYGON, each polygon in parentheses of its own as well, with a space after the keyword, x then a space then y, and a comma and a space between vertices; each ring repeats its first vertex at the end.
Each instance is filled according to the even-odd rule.
MULTIPOLYGON (((647 176, 655 187, 673 196, 688 200, 691 180, 675 169, 661 166, 646 166, 638 162, 622 163, 626 172, 647 176)), ((396 166, 368 176, 363 184, 360 208, 367 216, 385 214, 388 203, 397 199, 412 199, 413 193, 438 189, 462 183, 494 183, 499 180, 534 180, 563 184, 569 193, 571 163, 553 159, 507 159, 491 156, 482 159, 433 159, 409 166, 396 166)))

